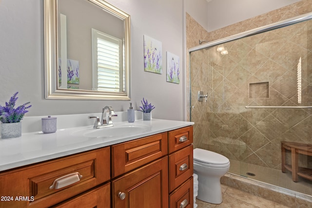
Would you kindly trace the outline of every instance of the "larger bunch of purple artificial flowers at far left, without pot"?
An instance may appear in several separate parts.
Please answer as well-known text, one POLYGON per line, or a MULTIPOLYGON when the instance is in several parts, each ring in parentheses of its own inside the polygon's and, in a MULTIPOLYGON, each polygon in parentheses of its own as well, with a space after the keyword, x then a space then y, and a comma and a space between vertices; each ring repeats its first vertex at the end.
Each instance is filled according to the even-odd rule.
POLYGON ((16 92, 9 100, 9 102, 5 102, 5 106, 0 105, 0 121, 2 123, 17 123, 23 119, 25 113, 27 113, 27 109, 31 107, 28 105, 30 102, 24 103, 17 107, 15 107, 15 103, 18 99, 17 95, 19 92, 16 92), (28 105, 28 106, 27 106, 28 105))

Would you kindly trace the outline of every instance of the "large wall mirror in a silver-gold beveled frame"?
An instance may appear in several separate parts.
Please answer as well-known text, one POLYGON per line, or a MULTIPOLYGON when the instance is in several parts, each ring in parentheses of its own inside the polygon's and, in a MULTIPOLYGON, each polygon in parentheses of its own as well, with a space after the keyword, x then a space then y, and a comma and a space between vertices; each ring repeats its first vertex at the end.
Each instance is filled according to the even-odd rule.
POLYGON ((130 100, 130 42, 104 0, 44 0, 45 98, 130 100))

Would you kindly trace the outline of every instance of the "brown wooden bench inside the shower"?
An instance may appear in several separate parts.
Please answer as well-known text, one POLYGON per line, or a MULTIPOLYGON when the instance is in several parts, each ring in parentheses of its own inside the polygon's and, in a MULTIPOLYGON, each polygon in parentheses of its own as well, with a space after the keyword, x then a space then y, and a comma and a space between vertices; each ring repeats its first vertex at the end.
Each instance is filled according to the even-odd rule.
POLYGON ((282 141, 281 147, 282 147, 282 172, 286 172, 286 169, 292 171, 292 180, 294 182, 298 181, 298 175, 303 178, 312 180, 312 169, 298 167, 298 154, 312 156, 312 145, 282 141), (286 164, 286 150, 292 152, 291 166, 286 164))

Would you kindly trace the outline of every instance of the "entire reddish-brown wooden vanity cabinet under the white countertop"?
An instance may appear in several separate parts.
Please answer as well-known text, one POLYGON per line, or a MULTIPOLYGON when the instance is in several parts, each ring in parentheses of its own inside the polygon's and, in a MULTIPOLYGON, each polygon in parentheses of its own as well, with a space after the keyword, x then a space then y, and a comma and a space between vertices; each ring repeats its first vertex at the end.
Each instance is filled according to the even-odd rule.
POLYGON ((0 208, 191 208, 193 127, 0 172, 0 208))

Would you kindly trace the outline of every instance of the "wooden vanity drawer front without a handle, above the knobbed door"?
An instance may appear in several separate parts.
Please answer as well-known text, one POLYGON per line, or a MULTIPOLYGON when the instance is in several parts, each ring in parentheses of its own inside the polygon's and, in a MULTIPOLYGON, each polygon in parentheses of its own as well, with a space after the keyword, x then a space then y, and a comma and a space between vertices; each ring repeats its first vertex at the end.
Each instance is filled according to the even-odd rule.
POLYGON ((167 132, 112 146, 112 177, 168 154, 167 132))

